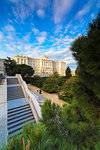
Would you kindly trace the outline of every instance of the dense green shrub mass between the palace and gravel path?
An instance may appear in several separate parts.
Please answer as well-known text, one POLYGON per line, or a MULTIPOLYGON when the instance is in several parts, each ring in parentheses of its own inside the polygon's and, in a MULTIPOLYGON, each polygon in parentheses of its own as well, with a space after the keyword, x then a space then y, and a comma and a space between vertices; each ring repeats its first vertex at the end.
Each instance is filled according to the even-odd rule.
POLYGON ((66 81, 66 77, 59 76, 58 74, 49 77, 34 76, 25 78, 26 83, 30 83, 48 93, 59 93, 63 84, 66 81))

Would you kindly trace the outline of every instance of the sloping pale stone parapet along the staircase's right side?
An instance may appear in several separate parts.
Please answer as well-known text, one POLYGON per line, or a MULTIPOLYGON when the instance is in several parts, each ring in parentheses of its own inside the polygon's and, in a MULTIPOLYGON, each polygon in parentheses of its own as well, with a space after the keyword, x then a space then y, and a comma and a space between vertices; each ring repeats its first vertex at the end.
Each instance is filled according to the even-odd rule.
POLYGON ((22 87, 22 90, 24 92, 25 98, 28 100, 32 112, 34 114, 36 122, 41 118, 41 107, 39 106, 39 103, 36 99, 36 97, 29 91, 26 82, 22 79, 21 75, 16 74, 16 77, 18 78, 19 84, 22 87))

